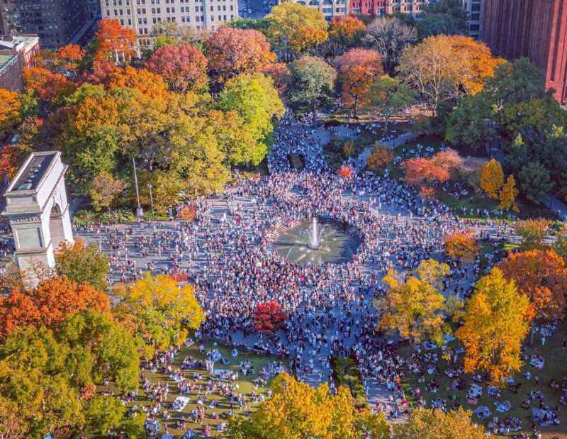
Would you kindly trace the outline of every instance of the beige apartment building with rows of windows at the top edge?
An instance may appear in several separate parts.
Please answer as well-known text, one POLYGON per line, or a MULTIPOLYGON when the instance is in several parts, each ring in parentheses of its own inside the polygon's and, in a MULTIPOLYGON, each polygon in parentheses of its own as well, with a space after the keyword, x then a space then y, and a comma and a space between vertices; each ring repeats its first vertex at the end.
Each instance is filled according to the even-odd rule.
POLYGON ((152 27, 176 23, 196 32, 215 30, 238 18, 237 0, 101 0, 102 18, 113 18, 132 28, 142 45, 151 40, 152 27))

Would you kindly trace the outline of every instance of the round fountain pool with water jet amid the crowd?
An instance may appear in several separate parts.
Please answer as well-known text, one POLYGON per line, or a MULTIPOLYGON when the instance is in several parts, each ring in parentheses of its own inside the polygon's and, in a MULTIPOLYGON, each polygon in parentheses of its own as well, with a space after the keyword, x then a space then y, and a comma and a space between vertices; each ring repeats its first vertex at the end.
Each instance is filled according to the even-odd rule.
POLYGON ((318 218, 318 248, 311 248, 313 224, 304 221, 279 235, 272 248, 289 262, 300 265, 342 264, 352 260, 360 246, 357 233, 337 221, 318 218))

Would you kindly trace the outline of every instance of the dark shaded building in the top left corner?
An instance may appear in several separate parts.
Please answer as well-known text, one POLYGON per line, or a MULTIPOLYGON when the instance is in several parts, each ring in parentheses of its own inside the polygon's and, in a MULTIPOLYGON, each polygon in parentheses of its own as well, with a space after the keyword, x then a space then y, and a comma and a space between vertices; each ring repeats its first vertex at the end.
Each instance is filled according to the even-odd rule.
POLYGON ((65 45, 87 23, 87 0, 0 0, 4 33, 37 34, 42 48, 65 45))

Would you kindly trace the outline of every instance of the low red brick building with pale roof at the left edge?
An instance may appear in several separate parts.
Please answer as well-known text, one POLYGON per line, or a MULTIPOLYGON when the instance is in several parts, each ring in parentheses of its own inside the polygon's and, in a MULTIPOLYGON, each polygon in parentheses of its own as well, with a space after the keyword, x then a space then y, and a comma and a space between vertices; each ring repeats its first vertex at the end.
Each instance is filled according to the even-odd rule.
POLYGON ((22 69, 32 65, 39 50, 38 35, 0 36, 0 88, 21 90, 22 69))

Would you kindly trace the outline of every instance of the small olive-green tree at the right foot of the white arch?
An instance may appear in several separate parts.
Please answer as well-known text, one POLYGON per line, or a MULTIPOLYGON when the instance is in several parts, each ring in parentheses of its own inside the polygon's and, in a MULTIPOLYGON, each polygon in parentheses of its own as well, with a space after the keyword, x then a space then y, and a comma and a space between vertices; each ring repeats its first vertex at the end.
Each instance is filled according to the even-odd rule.
POLYGON ((73 245, 62 243, 55 252, 57 274, 81 284, 88 282, 100 291, 106 291, 106 275, 108 274, 108 257, 99 252, 96 245, 85 245, 77 239, 73 245))

